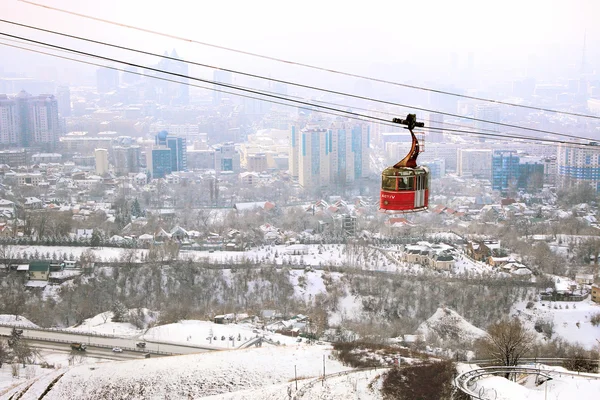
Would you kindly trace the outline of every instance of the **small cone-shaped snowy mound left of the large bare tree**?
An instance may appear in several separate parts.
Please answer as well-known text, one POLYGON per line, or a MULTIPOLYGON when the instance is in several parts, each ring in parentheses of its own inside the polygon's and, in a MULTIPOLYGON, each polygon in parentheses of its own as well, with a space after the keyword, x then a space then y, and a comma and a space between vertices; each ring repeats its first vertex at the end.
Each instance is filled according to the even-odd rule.
POLYGON ((477 328, 449 308, 438 308, 427 321, 419 325, 417 333, 425 336, 435 334, 442 340, 471 342, 486 335, 485 331, 477 328))

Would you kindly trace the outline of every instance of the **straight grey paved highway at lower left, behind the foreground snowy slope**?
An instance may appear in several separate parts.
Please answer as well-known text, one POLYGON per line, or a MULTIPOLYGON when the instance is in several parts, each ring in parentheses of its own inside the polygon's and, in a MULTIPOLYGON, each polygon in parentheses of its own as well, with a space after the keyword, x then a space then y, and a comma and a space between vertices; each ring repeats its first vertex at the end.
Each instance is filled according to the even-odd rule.
MULTIPOLYGON (((112 349, 112 347, 121 347, 124 350, 131 350, 142 355, 143 350, 137 349, 135 344, 139 341, 135 338, 123 338, 123 337, 101 337, 101 336, 88 336, 84 333, 67 333, 65 331, 51 331, 51 330, 38 330, 38 329, 23 329, 23 337, 26 339, 37 339, 38 341, 56 341, 64 342, 69 344, 74 343, 85 343, 90 347, 102 346, 112 349)), ((11 327, 0 327, 0 335, 10 335, 12 331, 11 327)), ((166 353, 170 354, 195 354, 206 351, 219 350, 218 348, 212 348, 208 346, 187 346, 183 344, 167 343, 167 342, 146 342, 145 350, 151 353, 166 353)))

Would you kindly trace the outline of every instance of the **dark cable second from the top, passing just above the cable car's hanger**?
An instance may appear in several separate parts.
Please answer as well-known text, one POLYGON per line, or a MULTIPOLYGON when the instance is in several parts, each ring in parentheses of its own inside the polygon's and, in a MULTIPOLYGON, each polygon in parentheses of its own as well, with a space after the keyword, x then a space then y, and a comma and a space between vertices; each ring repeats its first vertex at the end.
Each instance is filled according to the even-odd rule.
MULTIPOLYGON (((25 28, 28 28, 28 29, 33 29, 33 30, 37 30, 37 31, 41 31, 41 32, 51 33, 51 34, 58 35, 58 36, 68 37, 68 38, 71 38, 71 39, 86 41, 86 42, 89 42, 89 43, 99 44, 99 45, 102 45, 102 46, 108 46, 108 47, 112 47, 112 48, 116 48, 116 49, 120 49, 120 50, 126 50, 126 51, 130 51, 130 52, 135 52, 135 53, 139 53, 139 54, 144 54, 144 55, 148 55, 148 56, 152 56, 152 57, 163 58, 163 59, 172 60, 172 61, 177 61, 177 62, 181 62, 181 63, 187 63, 187 64, 196 65, 196 66, 205 67, 205 68, 218 69, 218 70, 227 71, 227 72, 231 72, 231 73, 235 73, 235 74, 249 76, 249 77, 252 77, 252 78, 269 80, 269 81, 272 81, 272 82, 277 82, 277 83, 283 83, 283 84, 288 84, 288 85, 292 85, 292 86, 302 87, 302 88, 305 88, 305 89, 316 90, 316 91, 321 91, 321 92, 335 94, 335 95, 340 95, 340 96, 351 97, 351 98, 365 100, 365 101, 370 101, 370 102, 382 103, 382 104, 387 104, 387 105, 396 106, 396 107, 403 107, 403 108, 411 109, 411 110, 419 110, 419 111, 425 111, 425 112, 428 112, 428 113, 442 114, 442 115, 447 115, 447 116, 451 116, 451 117, 455 117, 455 118, 468 119, 468 120, 471 120, 471 121, 482 122, 482 123, 486 123, 486 124, 499 125, 499 126, 504 126, 504 127, 513 128, 513 129, 520 129, 520 130, 526 130, 526 131, 531 131, 531 132, 544 133, 544 134, 552 135, 552 136, 578 138, 578 137, 573 136, 573 135, 568 135, 568 134, 558 133, 558 132, 552 132, 552 131, 548 131, 548 130, 544 130, 544 129, 530 128, 530 127, 524 127, 524 126, 520 126, 520 125, 508 124, 508 123, 503 123, 503 122, 498 122, 498 121, 490 121, 490 120, 486 120, 486 119, 482 119, 482 118, 468 117, 468 116, 463 116, 463 115, 449 113, 449 112, 444 112, 444 111, 432 110, 432 109, 424 108, 424 107, 412 106, 412 105, 408 105, 408 104, 401 104, 401 103, 396 103, 396 102, 392 102, 392 101, 386 101, 386 100, 375 99, 375 98, 366 97, 366 96, 360 96, 360 95, 356 95, 356 94, 352 94, 352 93, 340 92, 340 91, 337 91, 337 90, 324 89, 324 88, 320 88, 320 87, 316 87, 316 86, 312 86, 312 85, 305 85, 305 84, 295 83, 295 82, 291 82, 291 81, 285 81, 285 80, 280 80, 280 79, 275 79, 275 78, 269 78, 269 77, 265 77, 265 76, 262 76, 262 75, 256 75, 256 74, 246 73, 246 72, 242 72, 242 71, 236 71, 236 70, 231 70, 231 69, 220 68, 220 67, 209 65, 209 64, 203 64, 203 63, 198 63, 198 62, 194 62, 194 61, 187 61, 187 60, 183 60, 183 59, 171 57, 169 55, 161 55, 161 54, 158 54, 158 53, 152 53, 152 52, 148 52, 148 51, 145 51, 145 50, 134 49, 134 48, 127 47, 127 46, 116 45, 116 44, 113 44, 113 43, 108 43, 108 42, 104 42, 104 41, 89 39, 89 38, 85 38, 85 37, 82 37, 82 36, 71 35, 71 34, 67 34, 67 33, 63 33, 63 32, 57 32, 57 31, 53 31, 53 30, 49 30, 49 29, 44 29, 44 28, 39 28, 39 27, 31 26, 31 25, 26 25, 26 24, 14 22, 14 21, 8 21, 8 20, 5 20, 5 19, 0 19, 0 22, 4 22, 4 23, 7 23, 7 24, 12 24, 12 25, 16 25, 16 26, 20 26, 20 27, 25 27, 25 28)), ((4 34, 4 33, 0 33, 0 34, 7 35, 7 34, 4 34)), ((11 36, 11 35, 8 35, 8 36, 11 36)), ((13 36, 13 37, 15 37, 15 36, 13 36)), ((21 39, 23 39, 23 38, 21 38, 21 39)), ((27 38, 25 38, 23 40, 31 41, 31 39, 27 39, 27 38)), ((51 44, 47 44, 47 45, 48 46, 52 46, 52 47, 57 47, 57 46, 54 46, 54 45, 51 45, 51 44)), ((60 48, 60 46, 58 46, 58 48, 60 48)), ((71 50, 71 51, 73 51, 73 50, 71 50)), ((215 84, 217 84, 217 82, 215 82, 215 84)), ((235 86, 235 85, 230 85, 230 86, 235 86)), ((587 140, 594 140, 594 139, 588 138, 587 140)))

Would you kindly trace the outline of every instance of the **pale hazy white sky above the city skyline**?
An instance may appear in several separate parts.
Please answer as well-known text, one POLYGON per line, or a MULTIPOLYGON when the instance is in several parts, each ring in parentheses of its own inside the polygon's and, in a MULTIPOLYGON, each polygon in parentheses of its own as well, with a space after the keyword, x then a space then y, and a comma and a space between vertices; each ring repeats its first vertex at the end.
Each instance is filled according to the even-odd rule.
MULTIPOLYGON (((199 41, 351 72, 376 74, 377 70, 372 69, 374 65, 408 63, 399 76, 387 76, 400 81, 409 75, 423 81, 439 81, 440 76, 448 75, 452 53, 456 54, 460 67, 466 65, 468 53, 473 52, 478 71, 496 78, 502 77, 505 71, 518 76, 542 75, 559 67, 578 70, 586 31, 591 67, 600 59, 598 0, 37 2, 199 41)), ((4 19, 149 51, 162 53, 176 48, 184 58, 210 64, 297 80, 308 76, 298 68, 94 22, 17 0, 0 0, 0 10, 4 19)), ((6 24, 0 26, 2 32, 28 33, 6 24)), ((56 41, 51 35, 35 37, 56 41)), ((89 45, 83 48, 91 49, 89 45)), ((118 55, 143 60, 126 53, 118 55)), ((14 68, 15 62, 18 64, 18 59, 11 58, 5 71, 14 68)), ((393 71, 387 73, 393 74, 393 71)))

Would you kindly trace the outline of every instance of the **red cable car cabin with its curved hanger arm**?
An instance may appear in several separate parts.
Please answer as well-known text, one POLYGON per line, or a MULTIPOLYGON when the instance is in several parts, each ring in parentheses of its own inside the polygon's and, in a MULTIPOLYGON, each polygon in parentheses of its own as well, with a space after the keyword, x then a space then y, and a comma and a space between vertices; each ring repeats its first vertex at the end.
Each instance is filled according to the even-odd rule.
POLYGON ((417 122, 415 114, 394 122, 408 125, 412 136, 412 147, 406 157, 381 173, 380 211, 386 213, 408 213, 422 211, 429 205, 429 169, 417 165, 420 153, 419 141, 413 132, 417 122))

